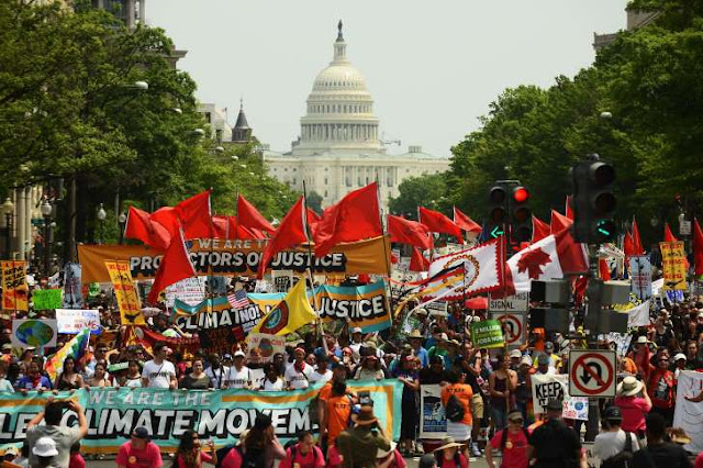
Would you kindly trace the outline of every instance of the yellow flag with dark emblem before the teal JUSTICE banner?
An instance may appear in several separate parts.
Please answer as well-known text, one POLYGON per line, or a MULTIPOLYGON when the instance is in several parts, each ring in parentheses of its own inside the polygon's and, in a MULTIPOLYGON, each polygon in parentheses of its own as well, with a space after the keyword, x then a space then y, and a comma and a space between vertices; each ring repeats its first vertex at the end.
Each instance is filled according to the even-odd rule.
POLYGON ((300 279, 283 300, 276 305, 249 333, 286 335, 317 319, 305 293, 305 280, 300 279))

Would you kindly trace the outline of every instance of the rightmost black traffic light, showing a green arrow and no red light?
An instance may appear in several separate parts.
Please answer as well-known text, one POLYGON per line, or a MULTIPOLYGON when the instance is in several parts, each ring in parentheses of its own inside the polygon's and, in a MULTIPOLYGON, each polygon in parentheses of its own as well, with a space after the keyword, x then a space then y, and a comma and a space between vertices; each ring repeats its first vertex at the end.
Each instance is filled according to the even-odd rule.
POLYGON ((615 238, 613 215, 617 200, 613 193, 615 169, 591 155, 571 169, 573 181, 573 238, 601 244, 615 238))

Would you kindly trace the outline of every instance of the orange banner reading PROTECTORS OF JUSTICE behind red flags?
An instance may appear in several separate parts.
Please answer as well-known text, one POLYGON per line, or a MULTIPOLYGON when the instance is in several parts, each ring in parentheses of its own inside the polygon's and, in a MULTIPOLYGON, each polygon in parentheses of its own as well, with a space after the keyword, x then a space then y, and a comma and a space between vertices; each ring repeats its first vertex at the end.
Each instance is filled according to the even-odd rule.
MULTIPOLYGON (((194 239, 188 242, 190 259, 201 276, 210 268, 221 276, 256 275, 266 239, 223 241, 194 239)), ((378 274, 386 275, 386 263, 390 245, 386 248, 382 237, 341 244, 322 258, 312 255, 312 270, 319 274, 378 274)), ((136 280, 154 278, 161 261, 163 252, 134 245, 79 245, 78 258, 83 267, 83 281, 108 282, 110 276, 104 267, 107 260, 129 261, 132 277, 136 280)), ((274 270, 293 270, 302 274, 310 264, 306 246, 280 252, 271 261, 274 270)))

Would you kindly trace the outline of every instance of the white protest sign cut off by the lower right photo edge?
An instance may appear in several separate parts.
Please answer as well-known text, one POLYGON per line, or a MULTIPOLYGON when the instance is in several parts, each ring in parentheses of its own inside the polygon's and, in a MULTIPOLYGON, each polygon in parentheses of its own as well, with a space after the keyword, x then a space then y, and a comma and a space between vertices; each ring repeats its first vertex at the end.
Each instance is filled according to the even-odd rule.
POLYGON ((692 454, 703 452, 701 421, 703 421, 703 372, 682 370, 679 374, 673 427, 681 427, 691 437, 691 443, 683 448, 692 454))

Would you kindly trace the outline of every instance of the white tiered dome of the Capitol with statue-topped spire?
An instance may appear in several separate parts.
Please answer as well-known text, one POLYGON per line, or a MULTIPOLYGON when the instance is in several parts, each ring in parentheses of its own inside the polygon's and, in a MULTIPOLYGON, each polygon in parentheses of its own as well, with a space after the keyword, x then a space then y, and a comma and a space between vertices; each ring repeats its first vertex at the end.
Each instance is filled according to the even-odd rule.
POLYGON ((373 99, 364 75, 347 60, 346 46, 339 21, 333 60, 313 82, 294 155, 386 152, 379 141, 373 99))

